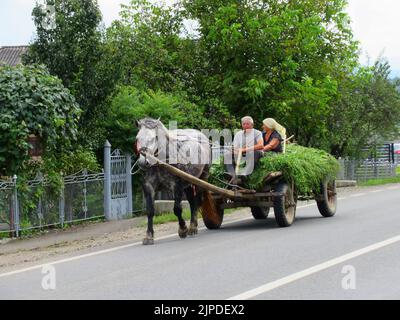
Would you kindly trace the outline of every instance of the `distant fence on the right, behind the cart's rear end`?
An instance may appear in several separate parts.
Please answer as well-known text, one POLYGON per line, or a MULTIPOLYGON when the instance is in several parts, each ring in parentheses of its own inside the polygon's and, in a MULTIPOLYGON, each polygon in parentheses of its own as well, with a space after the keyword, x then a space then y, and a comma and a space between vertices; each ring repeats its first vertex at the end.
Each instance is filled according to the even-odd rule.
POLYGON ((338 179, 365 181, 396 176, 396 162, 385 160, 347 160, 339 159, 338 179))

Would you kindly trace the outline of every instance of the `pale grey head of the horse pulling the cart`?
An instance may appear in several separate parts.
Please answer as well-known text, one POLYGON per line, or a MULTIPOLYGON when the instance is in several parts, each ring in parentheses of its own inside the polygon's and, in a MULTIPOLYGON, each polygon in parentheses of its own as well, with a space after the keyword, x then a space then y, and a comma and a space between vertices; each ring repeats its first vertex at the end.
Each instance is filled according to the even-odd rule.
POLYGON ((158 134, 162 124, 160 120, 144 118, 137 121, 136 125, 139 128, 135 141, 135 152, 139 154, 138 164, 142 168, 149 168, 155 162, 147 159, 142 153, 145 152, 152 156, 157 156, 158 134))

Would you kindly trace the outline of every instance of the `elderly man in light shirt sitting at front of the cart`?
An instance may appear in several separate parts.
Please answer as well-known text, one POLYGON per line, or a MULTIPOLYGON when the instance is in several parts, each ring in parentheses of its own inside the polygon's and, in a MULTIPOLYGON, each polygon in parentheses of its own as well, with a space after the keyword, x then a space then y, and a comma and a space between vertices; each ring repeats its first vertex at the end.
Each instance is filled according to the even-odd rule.
MULTIPOLYGON (((235 134, 233 139, 233 153, 235 158, 233 163, 227 163, 226 169, 232 177, 230 183, 241 184, 244 178, 253 172, 254 167, 263 156, 264 141, 261 131, 254 129, 252 117, 246 116, 241 120, 242 129, 235 134), (240 163, 245 157, 246 167, 237 168, 236 163, 240 163), (240 178, 238 176, 241 176, 240 178)), ((232 157, 232 154, 228 155, 232 157)), ((232 162, 232 161, 229 161, 232 162)))

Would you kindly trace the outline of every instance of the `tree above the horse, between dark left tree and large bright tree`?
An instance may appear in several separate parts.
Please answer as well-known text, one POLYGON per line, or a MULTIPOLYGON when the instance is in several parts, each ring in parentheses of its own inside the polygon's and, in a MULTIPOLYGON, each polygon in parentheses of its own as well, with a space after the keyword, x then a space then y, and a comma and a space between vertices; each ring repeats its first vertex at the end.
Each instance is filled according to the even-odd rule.
POLYGON ((123 85, 166 92, 182 91, 190 81, 191 42, 180 36, 182 14, 146 0, 122 5, 120 20, 106 34, 114 74, 123 85))

